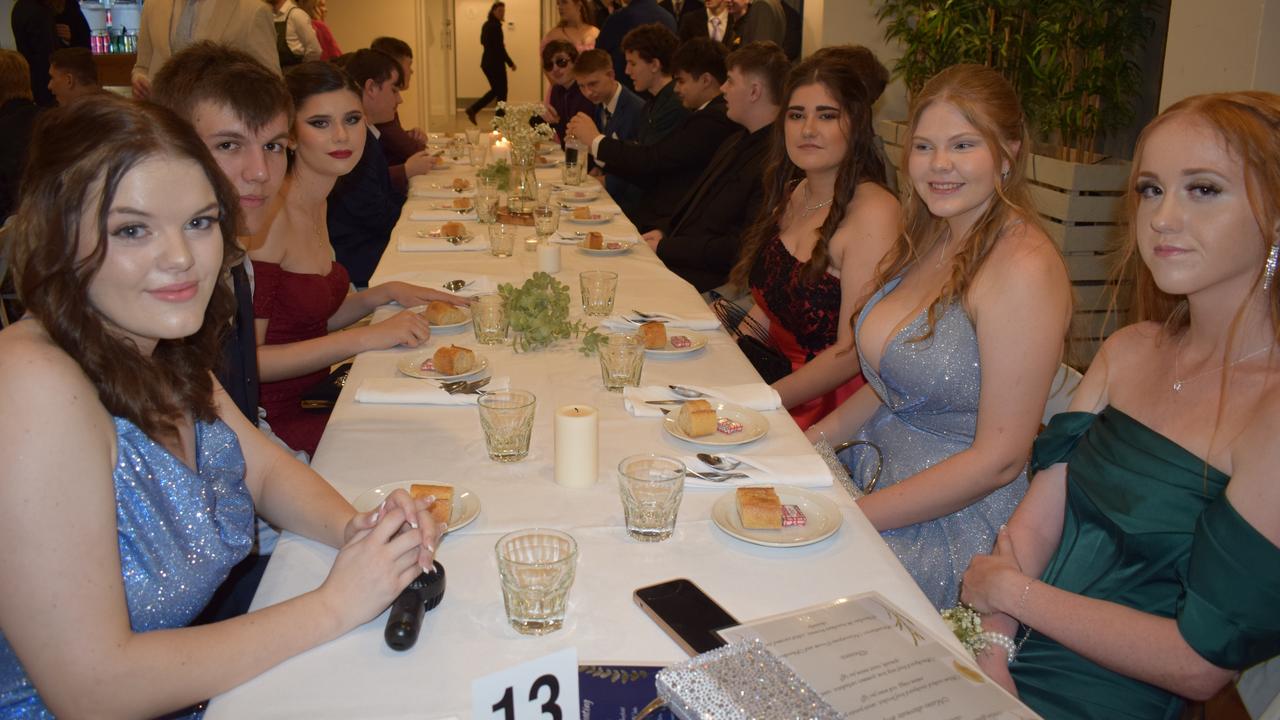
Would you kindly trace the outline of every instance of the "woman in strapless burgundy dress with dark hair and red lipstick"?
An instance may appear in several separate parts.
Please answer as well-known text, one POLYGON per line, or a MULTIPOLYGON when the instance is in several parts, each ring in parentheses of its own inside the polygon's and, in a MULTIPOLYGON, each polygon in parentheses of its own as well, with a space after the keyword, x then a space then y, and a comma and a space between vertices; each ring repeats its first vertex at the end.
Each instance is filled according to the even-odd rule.
POLYGON ((404 307, 463 299, 407 283, 351 292, 347 270, 333 259, 325 206, 334 182, 365 150, 360 88, 334 65, 302 63, 285 77, 297 119, 289 176, 275 199, 269 227, 250 240, 261 404, 266 419, 293 450, 315 452, 329 415, 303 411, 302 395, 329 366, 366 350, 416 347, 431 334, 426 320, 403 311, 381 323, 346 329, 380 305, 404 307), (342 331, 342 332, 338 332, 342 331))

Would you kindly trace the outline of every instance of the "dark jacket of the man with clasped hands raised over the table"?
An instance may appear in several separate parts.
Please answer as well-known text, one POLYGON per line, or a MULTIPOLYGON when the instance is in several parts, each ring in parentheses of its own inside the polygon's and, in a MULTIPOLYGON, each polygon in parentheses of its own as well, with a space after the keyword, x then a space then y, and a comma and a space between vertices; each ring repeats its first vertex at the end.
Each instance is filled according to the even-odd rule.
MULTIPOLYGON (((609 176, 618 176, 644 191, 627 215, 641 231, 662 225, 676 204, 698 181, 712 155, 739 126, 724 115, 724 97, 717 96, 653 145, 602 140, 598 158, 609 176)), ((623 209, 626 209, 623 206, 623 209)))

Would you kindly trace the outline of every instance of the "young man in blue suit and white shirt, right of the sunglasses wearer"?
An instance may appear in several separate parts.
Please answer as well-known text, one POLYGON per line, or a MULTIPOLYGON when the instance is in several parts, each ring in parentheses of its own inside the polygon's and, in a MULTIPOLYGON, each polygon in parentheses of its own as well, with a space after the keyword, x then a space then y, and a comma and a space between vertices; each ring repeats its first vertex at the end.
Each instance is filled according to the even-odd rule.
MULTIPOLYGON (((631 92, 618 82, 613 74, 613 60, 604 50, 588 50, 577 56, 573 64, 573 78, 577 87, 588 100, 595 104, 595 118, 579 113, 568 122, 568 133, 575 135, 575 123, 579 127, 590 127, 593 131, 600 128, 603 135, 630 141, 640 135, 640 126, 644 124, 644 100, 631 92)), ((577 137, 579 142, 590 138, 577 137)), ((599 168, 591 170, 595 177, 604 177, 599 168)), ((620 208, 639 200, 639 190, 620 177, 604 177, 604 190, 609 191, 613 201, 620 208)))

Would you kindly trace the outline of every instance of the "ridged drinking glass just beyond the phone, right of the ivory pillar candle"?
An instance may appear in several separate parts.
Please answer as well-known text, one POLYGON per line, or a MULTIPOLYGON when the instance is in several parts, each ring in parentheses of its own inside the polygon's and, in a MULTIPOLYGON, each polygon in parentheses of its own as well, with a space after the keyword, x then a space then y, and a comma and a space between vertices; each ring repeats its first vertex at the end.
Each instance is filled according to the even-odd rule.
POLYGON ((660 542, 676 529, 685 496, 685 464, 662 455, 632 455, 618 462, 618 492, 627 534, 660 542))

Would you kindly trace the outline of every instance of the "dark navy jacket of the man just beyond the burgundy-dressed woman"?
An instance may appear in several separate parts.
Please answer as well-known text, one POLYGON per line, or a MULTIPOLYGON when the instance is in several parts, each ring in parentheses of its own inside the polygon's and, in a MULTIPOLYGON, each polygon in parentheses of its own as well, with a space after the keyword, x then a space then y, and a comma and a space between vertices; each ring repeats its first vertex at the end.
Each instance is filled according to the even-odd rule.
POLYGON ((392 188, 381 145, 374 131, 366 133, 360 163, 329 192, 329 243, 360 287, 369 284, 404 205, 392 188))

